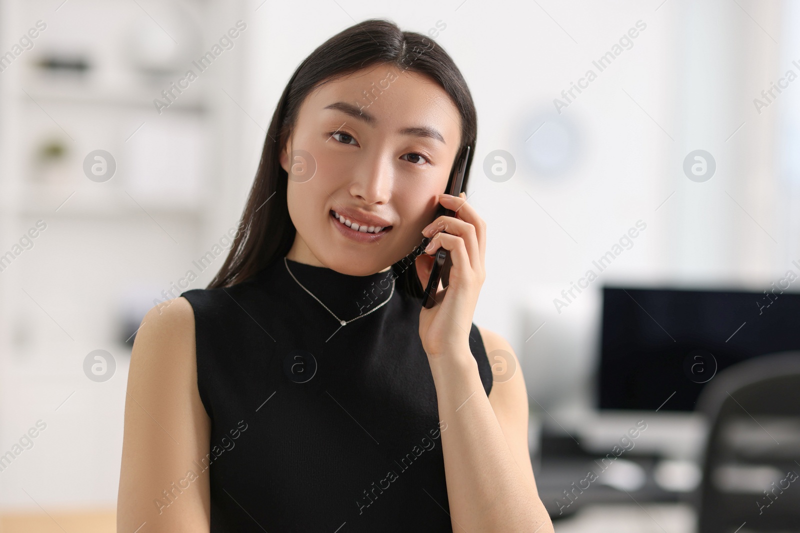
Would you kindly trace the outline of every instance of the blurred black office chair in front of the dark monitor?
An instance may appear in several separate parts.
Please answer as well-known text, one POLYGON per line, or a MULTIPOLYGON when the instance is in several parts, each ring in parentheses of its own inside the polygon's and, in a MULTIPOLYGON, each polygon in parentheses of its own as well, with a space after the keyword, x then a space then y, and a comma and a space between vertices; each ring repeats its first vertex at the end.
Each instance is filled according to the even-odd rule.
POLYGON ((702 389, 698 533, 800 531, 800 351, 734 364, 702 389))

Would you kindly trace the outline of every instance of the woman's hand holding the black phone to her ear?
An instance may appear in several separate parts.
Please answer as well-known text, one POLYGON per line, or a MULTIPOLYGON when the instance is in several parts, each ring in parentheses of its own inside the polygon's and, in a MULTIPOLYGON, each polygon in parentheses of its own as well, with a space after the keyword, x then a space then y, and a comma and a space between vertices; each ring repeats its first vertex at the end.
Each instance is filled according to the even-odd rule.
POLYGON ((460 197, 441 194, 439 201, 455 211, 455 217, 438 217, 422 230, 425 237, 433 240, 416 261, 423 288, 427 287, 434 265, 432 256, 439 248, 450 251, 453 263, 450 284, 442 289, 440 282, 434 306, 422 308, 419 313, 419 337, 429 357, 470 353, 472 318, 486 279, 486 222, 466 202, 466 193, 460 197))

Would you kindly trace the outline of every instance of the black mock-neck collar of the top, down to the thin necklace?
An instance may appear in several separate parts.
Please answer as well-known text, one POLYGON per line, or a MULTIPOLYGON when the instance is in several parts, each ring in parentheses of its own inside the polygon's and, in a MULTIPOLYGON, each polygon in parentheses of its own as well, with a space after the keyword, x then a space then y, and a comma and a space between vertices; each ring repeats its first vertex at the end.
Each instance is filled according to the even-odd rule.
MULTIPOLYGON (((396 280, 393 283, 394 272, 391 268, 386 272, 352 276, 332 268, 292 261, 287 257, 282 257, 276 263, 275 266, 282 271, 283 276, 286 276, 286 284, 290 285, 289 290, 297 294, 298 304, 317 306, 322 312, 330 315, 317 300, 303 290, 300 286, 302 284, 341 320, 352 320, 372 311, 389 300, 390 295, 394 297, 393 287, 394 292, 398 291, 394 286, 396 280)), ((334 317, 331 316, 330 319, 334 320, 334 317)))

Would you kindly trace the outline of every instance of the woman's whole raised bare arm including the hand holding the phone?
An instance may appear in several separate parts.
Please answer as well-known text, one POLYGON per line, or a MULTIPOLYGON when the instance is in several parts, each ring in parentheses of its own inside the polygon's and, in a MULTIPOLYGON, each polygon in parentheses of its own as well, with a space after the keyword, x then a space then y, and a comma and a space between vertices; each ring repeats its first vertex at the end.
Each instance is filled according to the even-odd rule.
MULTIPOLYGON (((428 354, 436 385, 442 426, 447 496, 454 531, 553 531, 539 499, 527 446, 528 403, 518 368, 490 395, 470 351, 469 334, 475 304, 486 279, 486 222, 460 197, 439 195, 454 211, 422 230, 430 245, 417 258, 419 279, 426 284, 439 247, 450 252, 450 284, 438 290, 436 305, 422 308, 419 336, 428 354)), ((441 284, 440 284, 441 287, 441 284)), ((501 348, 516 356, 502 337, 489 333, 486 352, 501 348)))

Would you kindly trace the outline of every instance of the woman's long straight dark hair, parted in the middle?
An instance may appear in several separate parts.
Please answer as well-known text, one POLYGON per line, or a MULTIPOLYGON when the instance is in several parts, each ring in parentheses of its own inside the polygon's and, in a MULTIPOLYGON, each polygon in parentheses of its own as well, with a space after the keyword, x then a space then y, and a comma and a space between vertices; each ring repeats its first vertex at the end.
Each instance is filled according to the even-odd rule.
MULTIPOLYGON (((474 153, 478 118, 472 95, 458 67, 442 47, 425 35, 401 31, 394 22, 386 20, 370 19, 350 26, 314 50, 286 84, 266 133, 261 161, 242 213, 241 231, 208 288, 229 287, 249 280, 289 253, 297 230, 286 203, 289 177, 279 156, 297 121, 300 106, 323 83, 378 64, 425 74, 438 83, 461 115, 461 147, 456 157, 466 145, 472 146, 474 153)), ((471 158, 464 189, 470 166, 471 158)), ((416 249, 392 265, 398 288, 418 298, 423 296, 423 289, 413 264, 420 252, 416 249)))

